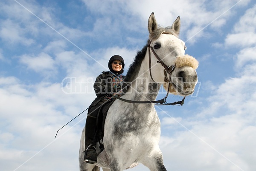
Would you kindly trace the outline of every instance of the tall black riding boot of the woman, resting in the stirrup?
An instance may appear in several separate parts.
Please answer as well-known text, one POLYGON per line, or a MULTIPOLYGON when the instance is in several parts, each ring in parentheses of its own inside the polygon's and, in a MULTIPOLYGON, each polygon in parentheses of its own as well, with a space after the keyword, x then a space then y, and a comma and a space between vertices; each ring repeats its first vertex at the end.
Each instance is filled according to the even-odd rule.
POLYGON ((97 162, 97 152, 95 148, 95 142, 93 142, 93 138, 96 134, 96 118, 87 116, 86 124, 85 124, 85 152, 84 152, 84 160, 88 163, 97 162))

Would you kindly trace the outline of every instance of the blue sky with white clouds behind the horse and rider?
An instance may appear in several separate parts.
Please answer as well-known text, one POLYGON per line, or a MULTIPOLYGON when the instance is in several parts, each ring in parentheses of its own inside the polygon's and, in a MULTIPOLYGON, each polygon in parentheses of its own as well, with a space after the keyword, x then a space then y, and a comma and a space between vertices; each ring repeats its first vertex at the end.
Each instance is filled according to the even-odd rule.
POLYGON ((152 12, 161 26, 180 16, 186 54, 199 61, 185 104, 155 107, 166 169, 256 170, 255 1, 0 0, 1 171, 79 170, 87 112, 55 134, 94 100, 111 56, 127 72, 152 12))

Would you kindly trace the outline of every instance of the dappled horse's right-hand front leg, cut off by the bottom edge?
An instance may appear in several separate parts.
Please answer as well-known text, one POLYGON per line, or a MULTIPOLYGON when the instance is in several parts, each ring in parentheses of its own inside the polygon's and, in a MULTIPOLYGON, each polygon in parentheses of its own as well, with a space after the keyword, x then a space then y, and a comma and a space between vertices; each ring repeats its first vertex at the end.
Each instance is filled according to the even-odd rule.
POLYGON ((145 157, 142 164, 151 171, 166 171, 163 165, 163 154, 161 151, 157 151, 153 155, 145 157))

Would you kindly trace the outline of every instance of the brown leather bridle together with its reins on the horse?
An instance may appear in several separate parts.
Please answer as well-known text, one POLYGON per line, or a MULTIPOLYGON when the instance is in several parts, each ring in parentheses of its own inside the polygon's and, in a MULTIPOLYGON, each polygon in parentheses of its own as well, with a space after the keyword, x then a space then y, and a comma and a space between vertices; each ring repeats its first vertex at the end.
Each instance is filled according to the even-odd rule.
MULTIPOLYGON (((171 32, 163 32, 162 34, 172 34, 171 32)), ((164 97, 163 99, 161 100, 156 100, 156 101, 133 101, 133 100, 126 100, 126 99, 123 99, 121 97, 118 97, 118 96, 115 96, 114 97, 116 99, 119 99, 119 100, 122 100, 124 102, 127 102, 127 103, 156 103, 155 105, 183 105, 184 104, 184 100, 185 100, 185 97, 183 97, 183 99, 181 101, 178 101, 178 102, 174 102, 174 103, 167 103, 166 102, 166 99, 169 95, 169 88, 170 88, 170 81, 171 81, 171 77, 172 77, 172 71, 174 71, 175 69, 175 65, 174 66, 167 66, 161 59, 160 57, 156 54, 156 52, 154 51, 154 48, 152 48, 152 46, 150 46, 151 42, 148 43, 148 60, 149 60, 149 73, 150 73, 150 77, 151 77, 151 80, 153 82, 156 83, 156 81, 154 81, 153 77, 152 77, 152 73, 151 73, 151 53, 150 53, 150 49, 151 51, 153 52, 154 56, 157 58, 157 63, 160 63, 163 68, 164 68, 164 81, 166 83, 168 83, 168 88, 167 88, 167 94, 166 94, 166 97, 164 97), (170 78, 168 79, 167 77, 167 73, 170 75, 170 78), (160 103, 160 104, 157 104, 157 103, 160 103)))

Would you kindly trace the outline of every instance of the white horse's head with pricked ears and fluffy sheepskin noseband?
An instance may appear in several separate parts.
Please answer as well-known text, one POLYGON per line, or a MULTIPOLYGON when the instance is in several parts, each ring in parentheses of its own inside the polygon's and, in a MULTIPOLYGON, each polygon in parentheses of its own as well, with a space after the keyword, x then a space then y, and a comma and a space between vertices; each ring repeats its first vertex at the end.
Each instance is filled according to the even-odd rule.
POLYGON ((152 81, 163 83, 163 87, 172 94, 184 97, 192 94, 198 82, 195 71, 198 61, 185 55, 185 43, 178 38, 180 17, 172 26, 163 28, 157 26, 152 13, 148 19, 148 31, 148 55, 151 56, 149 72, 152 81))

